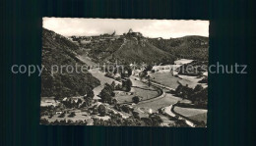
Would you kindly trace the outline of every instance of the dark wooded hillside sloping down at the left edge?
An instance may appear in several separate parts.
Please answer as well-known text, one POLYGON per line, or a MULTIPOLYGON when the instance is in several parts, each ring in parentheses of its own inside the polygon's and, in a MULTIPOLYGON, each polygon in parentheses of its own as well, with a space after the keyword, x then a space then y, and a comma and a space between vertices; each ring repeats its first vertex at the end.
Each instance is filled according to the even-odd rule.
MULTIPOLYGON (((76 58, 79 47, 66 37, 53 31, 42 29, 41 63, 46 70, 41 74, 41 97, 69 97, 85 95, 92 92, 99 85, 91 73, 63 73, 51 74, 51 66, 83 65, 76 58)), ((59 69, 60 70, 60 69, 59 69)))

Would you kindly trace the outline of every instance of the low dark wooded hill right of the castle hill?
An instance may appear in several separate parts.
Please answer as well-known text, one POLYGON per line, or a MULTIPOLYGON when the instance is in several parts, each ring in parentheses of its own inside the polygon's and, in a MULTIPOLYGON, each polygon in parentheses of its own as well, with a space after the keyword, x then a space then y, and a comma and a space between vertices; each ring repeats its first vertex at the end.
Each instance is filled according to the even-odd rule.
POLYGON ((170 39, 149 38, 149 42, 178 58, 208 61, 208 37, 191 35, 170 39))

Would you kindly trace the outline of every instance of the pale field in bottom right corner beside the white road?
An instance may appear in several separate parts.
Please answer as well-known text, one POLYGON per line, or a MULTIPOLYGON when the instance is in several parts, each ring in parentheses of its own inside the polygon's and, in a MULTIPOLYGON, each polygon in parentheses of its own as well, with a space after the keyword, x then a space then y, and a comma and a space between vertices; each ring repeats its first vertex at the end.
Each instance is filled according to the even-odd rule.
POLYGON ((194 117, 196 115, 201 115, 201 114, 207 113, 207 110, 192 109, 192 108, 180 108, 180 107, 175 107, 174 111, 180 115, 185 116, 185 117, 194 117))

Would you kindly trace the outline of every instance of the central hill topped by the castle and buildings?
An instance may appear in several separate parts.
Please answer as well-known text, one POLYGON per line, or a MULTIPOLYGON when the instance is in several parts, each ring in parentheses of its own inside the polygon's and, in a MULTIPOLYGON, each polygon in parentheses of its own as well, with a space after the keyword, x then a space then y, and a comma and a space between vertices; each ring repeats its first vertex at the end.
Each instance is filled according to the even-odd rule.
POLYGON ((76 38, 80 47, 88 51, 96 62, 172 64, 176 59, 171 53, 161 50, 139 32, 129 31, 123 35, 98 35, 76 38), (82 43, 84 40, 88 43, 82 43))

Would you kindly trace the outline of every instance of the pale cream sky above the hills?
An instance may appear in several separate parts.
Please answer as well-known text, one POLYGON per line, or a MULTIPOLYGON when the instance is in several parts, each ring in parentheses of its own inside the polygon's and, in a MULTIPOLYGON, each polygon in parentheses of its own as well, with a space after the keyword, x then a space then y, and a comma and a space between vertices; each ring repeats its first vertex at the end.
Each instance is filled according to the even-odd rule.
POLYGON ((123 34, 132 28, 145 37, 165 39, 186 35, 209 36, 209 21, 123 20, 43 18, 42 26, 64 36, 92 36, 103 33, 123 34))

